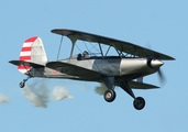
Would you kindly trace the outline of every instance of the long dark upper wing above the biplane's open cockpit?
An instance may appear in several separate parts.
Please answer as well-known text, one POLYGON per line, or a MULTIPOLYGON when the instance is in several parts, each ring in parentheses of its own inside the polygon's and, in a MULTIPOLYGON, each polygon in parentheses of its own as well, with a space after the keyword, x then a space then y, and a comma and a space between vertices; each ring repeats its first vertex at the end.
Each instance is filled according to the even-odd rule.
POLYGON ((65 35, 69 37, 70 40, 81 40, 81 41, 88 41, 88 42, 96 42, 96 43, 102 43, 106 45, 113 46, 114 48, 125 52, 132 55, 137 55, 140 57, 154 57, 158 59, 175 59, 168 55, 135 45, 130 42, 123 42, 115 38, 110 38, 106 36, 100 36, 96 34, 85 33, 80 31, 74 31, 74 30, 65 30, 65 29, 55 29, 51 31, 52 33, 56 33, 59 35, 65 35))

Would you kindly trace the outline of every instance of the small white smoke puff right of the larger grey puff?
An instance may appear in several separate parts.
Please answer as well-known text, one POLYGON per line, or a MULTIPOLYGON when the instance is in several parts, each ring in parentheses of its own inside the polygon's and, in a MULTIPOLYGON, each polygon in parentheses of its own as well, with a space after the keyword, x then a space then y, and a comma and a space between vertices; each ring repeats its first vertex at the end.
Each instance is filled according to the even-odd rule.
POLYGON ((73 99, 74 97, 68 94, 68 90, 64 87, 56 86, 53 89, 53 97, 56 101, 60 101, 65 98, 73 99))

